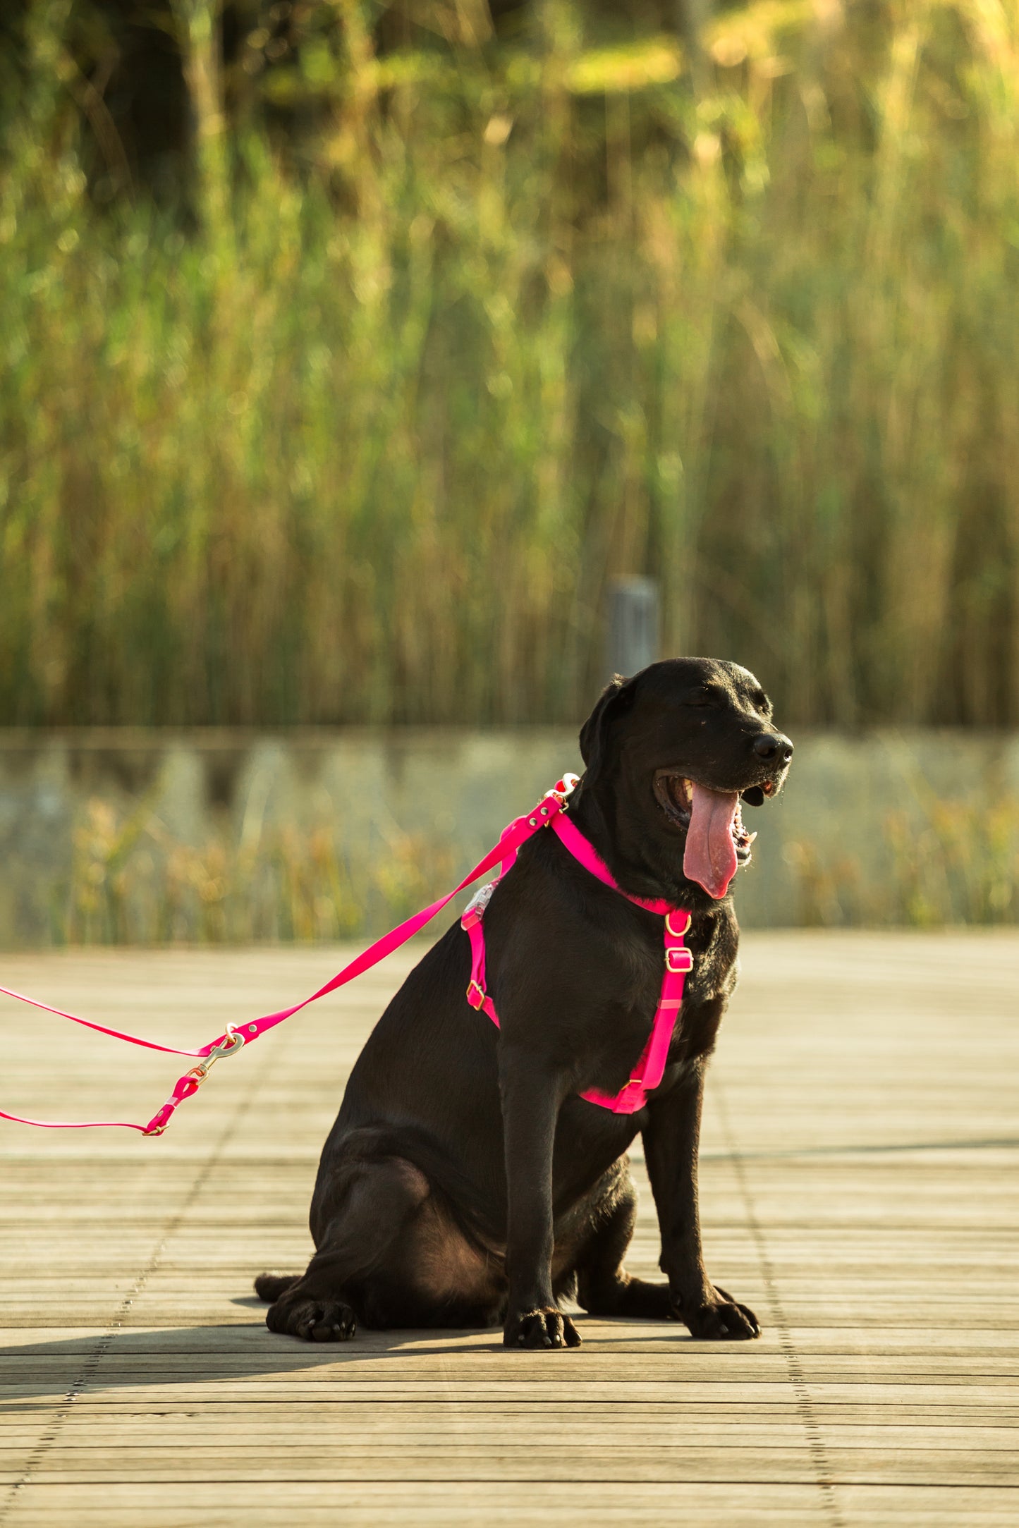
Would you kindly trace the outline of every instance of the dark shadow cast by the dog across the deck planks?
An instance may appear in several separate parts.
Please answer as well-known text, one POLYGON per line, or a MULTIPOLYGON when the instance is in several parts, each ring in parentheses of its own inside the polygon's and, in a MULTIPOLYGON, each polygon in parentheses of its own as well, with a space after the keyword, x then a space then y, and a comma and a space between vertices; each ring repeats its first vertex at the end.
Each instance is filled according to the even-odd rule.
MULTIPOLYGON (((264 1311, 257 1299, 235 1299, 235 1306, 251 1306, 252 1316, 264 1311)), ((683 1346, 692 1339, 686 1328, 672 1322, 594 1320, 577 1317, 584 1346, 545 1352, 544 1349, 507 1349, 501 1334, 489 1331, 365 1331, 345 1343, 306 1343, 295 1337, 269 1332, 261 1320, 223 1326, 167 1326, 157 1329, 118 1326, 52 1342, 8 1343, 0 1348, 0 1416, 34 1410, 52 1410, 53 1397, 70 1404, 79 1395, 147 1392, 176 1386, 206 1386, 229 1381, 266 1381, 286 1386, 307 1377, 321 1380, 356 1380, 371 1371, 371 1380, 400 1384, 412 1377, 425 1378, 432 1369, 435 1378, 449 1378, 449 1365, 461 1368, 469 1380, 478 1360, 498 1355, 500 1380, 513 1380, 515 1360, 541 1357, 548 1365, 567 1363, 573 1371, 585 1354, 625 1352, 634 1346, 646 1351, 649 1343, 663 1351, 683 1346), (431 1360, 431 1361, 429 1361, 431 1360), (435 1363, 442 1360, 442 1363, 435 1363), (330 1374, 330 1371, 333 1371, 330 1374)), ((741 1346, 741 1345, 738 1345, 741 1346)), ((573 1371, 574 1372, 574 1371, 573 1371)), ((490 1375, 486 1375, 489 1378, 490 1375)), ((127 1397, 125 1397, 127 1398, 127 1397)), ((202 1400, 214 1400, 206 1394, 202 1400)))

